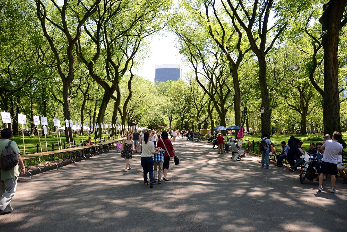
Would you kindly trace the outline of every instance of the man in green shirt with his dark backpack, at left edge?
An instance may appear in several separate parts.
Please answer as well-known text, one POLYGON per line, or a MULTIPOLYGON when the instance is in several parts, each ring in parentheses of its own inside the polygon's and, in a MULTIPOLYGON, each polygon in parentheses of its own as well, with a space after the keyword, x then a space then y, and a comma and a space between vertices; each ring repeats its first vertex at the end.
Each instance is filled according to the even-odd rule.
POLYGON ((20 157, 18 145, 11 141, 12 131, 5 128, 1 131, 0 139, 0 215, 9 214, 15 209, 11 206, 11 200, 15 196, 18 176, 23 176, 25 167, 20 157), (18 164, 20 171, 18 170, 18 164))

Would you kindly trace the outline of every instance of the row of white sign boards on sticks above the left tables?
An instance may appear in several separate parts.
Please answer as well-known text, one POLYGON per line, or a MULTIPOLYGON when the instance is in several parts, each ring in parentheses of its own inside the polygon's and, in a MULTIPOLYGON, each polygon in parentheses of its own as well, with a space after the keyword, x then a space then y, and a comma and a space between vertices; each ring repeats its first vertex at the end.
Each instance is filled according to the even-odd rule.
MULTIPOLYGON (((18 117, 18 123, 19 124, 24 124, 26 125, 26 115, 25 114, 17 114, 18 117)), ((1 118, 2 118, 2 123, 12 123, 11 121, 11 115, 8 112, 1 112, 1 118)), ((43 125, 43 133, 47 134, 47 127, 48 126, 48 121, 46 117, 41 116, 41 123, 43 125)), ((34 125, 40 125, 40 116, 34 116, 34 125)), ((57 118, 53 118, 53 125, 60 127, 60 120, 57 118)), ((73 121, 72 120, 65 120, 65 126, 70 127, 73 126, 73 121)), ((75 126, 76 128, 79 126, 79 128, 82 127, 82 122, 77 122, 75 121, 75 126)), ((88 127, 88 122, 86 122, 86 126, 88 127)), ((112 128, 112 124, 107 124, 105 123, 104 125, 100 123, 101 128, 105 126, 105 128, 112 128)), ((95 124, 96 128, 99 128, 99 123, 95 124)), ((124 125, 119 125, 120 128, 125 128, 124 125)), ((93 124, 91 125, 92 130, 94 129, 93 124)), ((113 128, 116 128, 116 124, 113 124, 113 128)))

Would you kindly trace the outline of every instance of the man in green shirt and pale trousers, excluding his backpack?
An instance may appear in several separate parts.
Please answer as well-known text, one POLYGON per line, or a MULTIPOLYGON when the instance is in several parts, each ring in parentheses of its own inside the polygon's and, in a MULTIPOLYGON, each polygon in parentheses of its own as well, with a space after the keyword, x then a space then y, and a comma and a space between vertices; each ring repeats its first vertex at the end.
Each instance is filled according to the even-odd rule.
POLYGON ((10 129, 5 128, 1 131, 1 138, 0 139, 0 154, 2 154, 2 150, 7 146, 9 142, 10 147, 12 150, 18 155, 19 161, 18 164, 20 166, 20 172, 18 171, 18 164, 10 169, 9 171, 3 171, 1 170, 0 176, 0 215, 1 214, 9 214, 15 209, 11 206, 11 200, 15 196, 16 188, 17 188, 17 181, 19 174, 21 176, 25 173, 25 167, 22 160, 22 157, 20 157, 20 152, 18 149, 18 145, 15 141, 10 141, 12 138, 12 132, 10 129))

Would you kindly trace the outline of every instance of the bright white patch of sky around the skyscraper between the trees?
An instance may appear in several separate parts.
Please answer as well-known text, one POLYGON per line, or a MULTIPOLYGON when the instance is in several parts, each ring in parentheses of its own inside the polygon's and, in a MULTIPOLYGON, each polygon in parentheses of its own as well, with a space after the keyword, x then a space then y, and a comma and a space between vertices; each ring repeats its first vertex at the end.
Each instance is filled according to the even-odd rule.
POLYGON ((155 77, 155 65, 181 64, 183 73, 189 70, 189 67, 183 64, 183 56, 179 54, 176 48, 175 35, 168 31, 164 31, 163 34, 164 36, 152 35, 149 38, 151 41, 148 48, 150 53, 147 55, 143 65, 134 72, 152 82, 155 77))

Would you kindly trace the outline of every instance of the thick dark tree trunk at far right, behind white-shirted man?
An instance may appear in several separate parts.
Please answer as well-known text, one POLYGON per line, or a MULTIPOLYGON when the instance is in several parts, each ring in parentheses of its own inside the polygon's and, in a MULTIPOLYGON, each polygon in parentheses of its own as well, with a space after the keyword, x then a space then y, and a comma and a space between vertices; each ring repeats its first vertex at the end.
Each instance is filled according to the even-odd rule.
MULTIPOLYGON (((347 0, 330 0, 323 5, 323 15, 319 19, 322 24, 324 49, 324 94, 323 125, 324 134, 332 136, 334 131, 341 132, 338 44, 340 24, 346 8, 347 0)), ((339 141, 344 147, 346 143, 339 141)))

